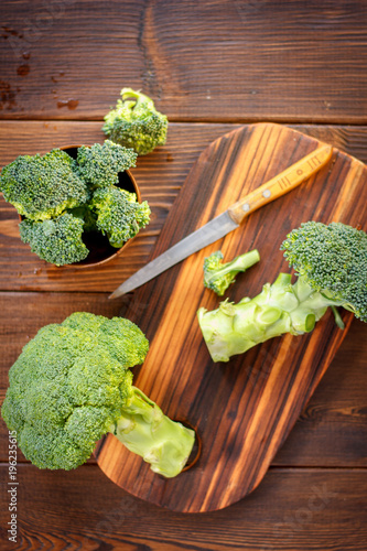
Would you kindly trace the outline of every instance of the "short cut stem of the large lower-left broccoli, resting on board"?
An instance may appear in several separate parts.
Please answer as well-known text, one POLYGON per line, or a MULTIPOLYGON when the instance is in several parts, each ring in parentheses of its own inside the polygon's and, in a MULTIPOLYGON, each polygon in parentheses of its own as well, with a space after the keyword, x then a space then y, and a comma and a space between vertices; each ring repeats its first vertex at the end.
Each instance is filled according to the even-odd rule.
POLYGON ((110 432, 168 478, 181 473, 195 442, 194 431, 164 415, 137 387, 110 432))

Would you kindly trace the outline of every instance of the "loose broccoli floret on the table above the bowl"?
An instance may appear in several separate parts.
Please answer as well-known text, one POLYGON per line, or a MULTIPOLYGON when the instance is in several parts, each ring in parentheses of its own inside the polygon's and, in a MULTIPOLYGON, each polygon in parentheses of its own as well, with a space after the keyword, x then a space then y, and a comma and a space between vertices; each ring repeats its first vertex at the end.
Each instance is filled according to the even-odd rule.
POLYGON ((122 88, 121 99, 106 115, 102 130, 114 142, 145 155, 156 145, 164 145, 168 125, 166 116, 155 109, 151 98, 141 91, 122 88))

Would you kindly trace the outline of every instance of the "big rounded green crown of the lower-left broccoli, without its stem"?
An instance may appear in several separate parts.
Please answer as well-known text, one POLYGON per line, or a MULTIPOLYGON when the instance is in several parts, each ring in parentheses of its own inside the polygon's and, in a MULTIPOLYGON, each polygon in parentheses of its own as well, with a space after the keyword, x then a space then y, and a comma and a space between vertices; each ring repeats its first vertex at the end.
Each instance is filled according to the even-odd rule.
POLYGON ((132 393, 148 341, 132 322, 77 312, 39 331, 9 371, 2 417, 40 468, 76 468, 132 393))

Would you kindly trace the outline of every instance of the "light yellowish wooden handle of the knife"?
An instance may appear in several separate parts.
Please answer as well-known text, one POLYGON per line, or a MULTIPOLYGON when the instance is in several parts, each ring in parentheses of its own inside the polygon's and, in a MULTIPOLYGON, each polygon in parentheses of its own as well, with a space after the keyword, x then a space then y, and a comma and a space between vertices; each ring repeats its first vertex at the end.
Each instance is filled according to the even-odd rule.
POLYGON ((260 187, 257 187, 253 192, 237 201, 237 203, 227 209, 229 216, 236 224, 240 224, 247 215, 253 213, 253 210, 260 206, 284 195, 293 190, 293 187, 296 187, 307 180, 327 163, 332 153, 333 148, 331 145, 325 144, 317 148, 309 155, 269 180, 266 184, 260 185, 260 187))

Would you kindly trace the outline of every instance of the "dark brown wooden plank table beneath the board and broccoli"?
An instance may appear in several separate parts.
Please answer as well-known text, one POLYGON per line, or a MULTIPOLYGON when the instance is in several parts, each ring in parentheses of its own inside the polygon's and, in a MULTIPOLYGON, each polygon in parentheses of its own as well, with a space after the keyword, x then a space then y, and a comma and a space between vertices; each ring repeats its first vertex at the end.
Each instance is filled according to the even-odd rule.
MULTIPOLYGON (((142 267, 191 166, 214 139, 274 121, 367 162, 365 2, 284 0, 3 0, 0 165, 19 154, 102 142, 123 86, 170 120, 169 139, 133 170, 152 222, 129 258, 55 269, 19 239, 0 202, 1 401, 8 370, 37 329, 86 310, 118 315, 108 294, 142 267)), ((367 228, 364 228, 367 229, 367 228)), ((367 549, 366 326, 352 329, 260 486, 219 511, 185 515, 114 485, 94 460, 46 472, 18 454, 18 542, 1 421, 0 549, 367 549)))

